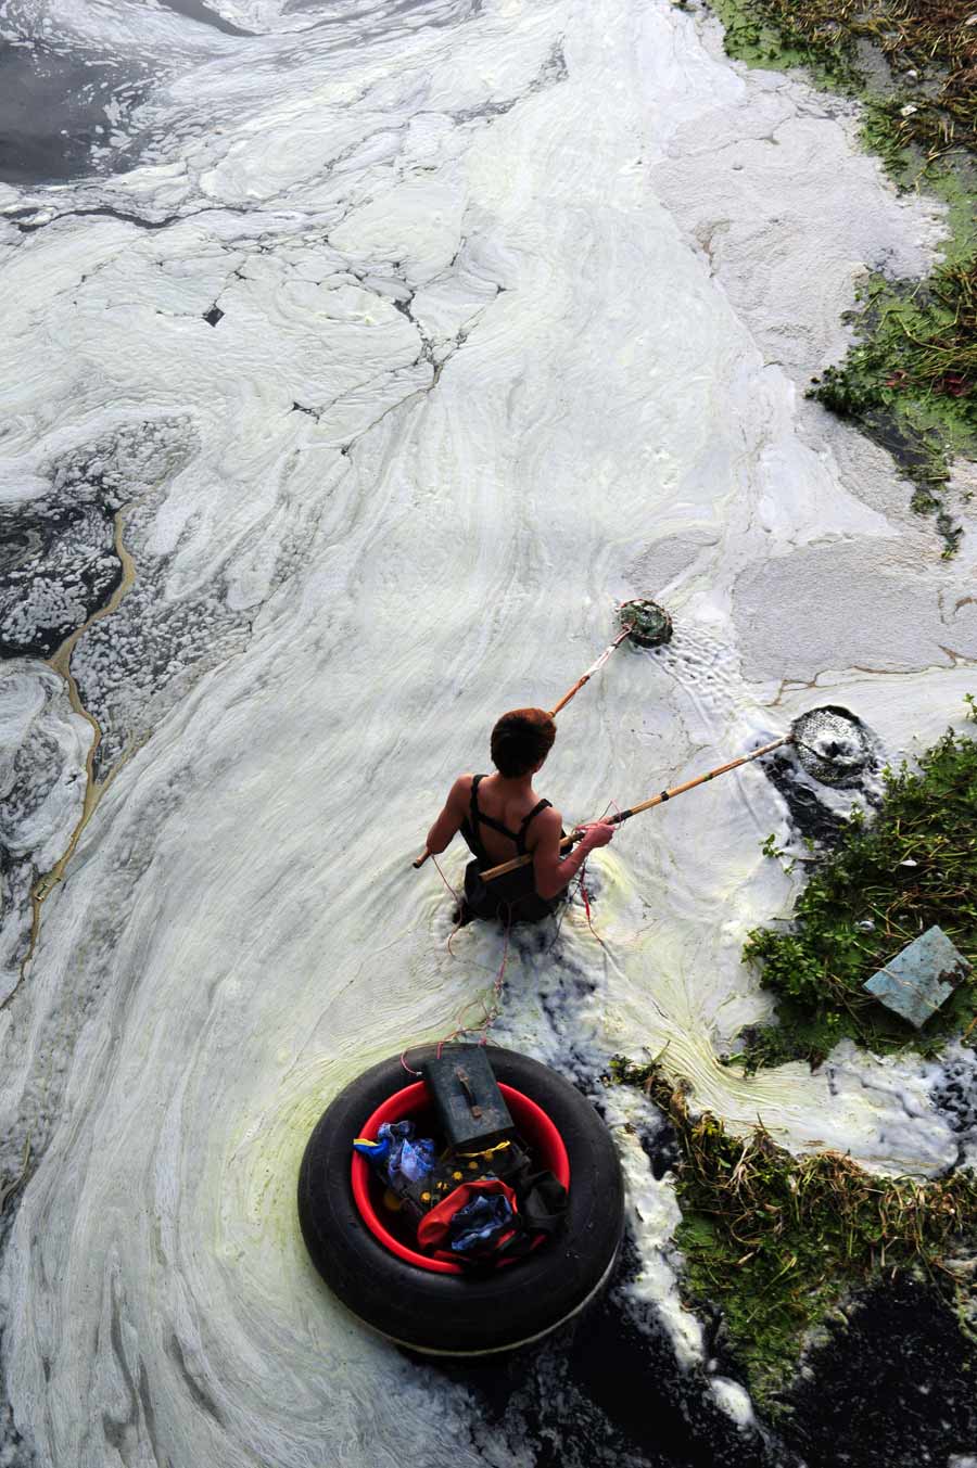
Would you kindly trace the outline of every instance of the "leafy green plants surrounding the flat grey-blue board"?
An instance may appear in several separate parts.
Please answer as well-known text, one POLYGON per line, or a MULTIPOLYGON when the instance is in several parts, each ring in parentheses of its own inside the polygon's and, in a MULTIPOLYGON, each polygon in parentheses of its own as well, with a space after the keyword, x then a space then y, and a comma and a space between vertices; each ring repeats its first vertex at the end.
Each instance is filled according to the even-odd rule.
MULTIPOLYGON (((973 709, 973 699, 970 700, 973 709)), ((777 1023, 739 1036, 746 1064, 820 1064, 849 1036, 877 1054, 936 1054, 948 1035, 973 1036, 977 1014, 977 740, 948 730, 920 759, 884 771, 873 824, 852 819, 814 871, 786 926, 755 928, 743 959, 777 997, 777 1023), (917 1031, 862 988, 933 923, 976 970, 917 1031)), ((764 847, 776 854, 771 843, 764 847)))

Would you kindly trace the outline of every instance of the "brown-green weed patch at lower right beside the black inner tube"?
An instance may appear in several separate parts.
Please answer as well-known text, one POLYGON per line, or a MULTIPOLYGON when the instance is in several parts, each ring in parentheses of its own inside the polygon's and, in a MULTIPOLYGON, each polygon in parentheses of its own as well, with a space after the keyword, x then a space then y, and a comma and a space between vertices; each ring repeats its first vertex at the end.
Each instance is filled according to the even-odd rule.
POLYGON ((668 1117, 679 1145, 674 1242, 693 1309, 721 1311, 726 1343, 755 1400, 771 1415, 818 1327, 855 1290, 899 1271, 924 1273, 965 1314, 953 1254, 977 1229, 977 1176, 883 1179, 849 1157, 792 1157, 763 1126, 735 1138, 657 1061, 619 1055, 619 1083, 639 1086, 668 1117))

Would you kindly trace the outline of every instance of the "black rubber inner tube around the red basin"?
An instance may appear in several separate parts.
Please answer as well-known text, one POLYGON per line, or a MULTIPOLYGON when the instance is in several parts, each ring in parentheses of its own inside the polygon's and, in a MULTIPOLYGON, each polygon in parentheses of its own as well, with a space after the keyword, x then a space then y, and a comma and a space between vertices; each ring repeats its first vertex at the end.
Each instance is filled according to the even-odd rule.
MULTIPOLYGON (((433 1047, 411 1050, 417 1067, 433 1047)), ((624 1230, 614 1142, 586 1097, 548 1066, 489 1051, 495 1079, 530 1097, 563 1136, 569 1207, 560 1232, 517 1264, 436 1274, 391 1254, 366 1227, 350 1179, 353 1138, 386 1097, 410 1083, 400 1055, 342 1091, 319 1119, 298 1173, 298 1218, 323 1280, 364 1324, 411 1351, 489 1355, 539 1339, 574 1315, 610 1277, 624 1230)))

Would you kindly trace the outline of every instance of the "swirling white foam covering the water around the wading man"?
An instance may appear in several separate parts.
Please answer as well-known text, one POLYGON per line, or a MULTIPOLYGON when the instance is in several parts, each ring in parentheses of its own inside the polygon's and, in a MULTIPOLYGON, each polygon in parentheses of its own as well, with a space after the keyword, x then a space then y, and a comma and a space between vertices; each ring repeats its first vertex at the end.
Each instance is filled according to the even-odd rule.
MULTIPOLYGON (((466 929, 453 960, 447 895, 410 860, 495 716, 551 705, 605 644, 613 597, 667 589, 676 634, 617 653, 561 716, 547 788, 567 819, 811 703, 857 711, 889 757, 961 712, 962 573, 884 457, 795 382, 839 348, 854 273, 886 252, 924 269, 937 225, 843 109, 742 73, 666 4, 219 10, 269 34, 51 7, 120 54, 182 50, 132 172, 18 191, 54 222, 0 236, 1 451, 25 486, 120 415, 192 427, 138 511, 154 599, 106 622, 122 647, 185 612, 170 691, 129 694, 151 737, 0 1011, 4 1166, 28 1138, 41 1158, 0 1274, 6 1384, 63 1468, 523 1464, 464 1387, 320 1284, 301 1151, 345 1082, 491 984, 500 935, 466 929), (837 556, 874 590, 845 562, 826 596, 837 556), (871 615, 899 597, 912 617, 871 615)), ((50 718, 76 768, 76 724, 50 718)), ((760 853, 783 816, 748 766, 629 824, 594 859, 604 947, 579 907, 558 950, 514 942, 500 1039, 594 1086, 613 1053, 664 1051, 735 1129, 939 1171, 956 1144, 912 1061, 718 1063, 768 1010, 739 956, 801 881, 760 853)), ((638 1100, 616 1104, 627 1120, 638 1100)), ((623 1127, 621 1157, 632 1305, 692 1362, 670 1183, 623 1127)))

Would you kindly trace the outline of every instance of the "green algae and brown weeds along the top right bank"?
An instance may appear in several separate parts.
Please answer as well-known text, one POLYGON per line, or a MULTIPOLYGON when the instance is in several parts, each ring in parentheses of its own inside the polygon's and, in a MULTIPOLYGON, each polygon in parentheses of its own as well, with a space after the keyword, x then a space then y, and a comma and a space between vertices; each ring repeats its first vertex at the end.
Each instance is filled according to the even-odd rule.
POLYGON ((977 459, 977 26, 971 0, 711 0, 726 50, 805 68, 857 98, 861 137, 901 191, 946 206, 943 260, 924 282, 873 275, 846 320, 855 344, 808 396, 886 448, 958 548, 946 487, 977 459))

